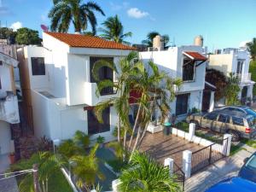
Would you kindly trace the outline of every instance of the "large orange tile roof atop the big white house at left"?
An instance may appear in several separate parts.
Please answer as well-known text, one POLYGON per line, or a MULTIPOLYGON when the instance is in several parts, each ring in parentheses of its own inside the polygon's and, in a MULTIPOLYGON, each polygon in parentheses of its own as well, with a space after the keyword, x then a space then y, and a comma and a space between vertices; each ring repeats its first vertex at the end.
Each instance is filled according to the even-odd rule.
POLYGON ((133 50, 131 46, 125 44, 115 43, 113 41, 107 41, 103 38, 95 36, 82 35, 82 34, 68 34, 61 32, 45 32, 53 38, 60 40, 61 42, 68 44, 70 47, 79 48, 98 48, 98 49, 129 49, 133 50))

